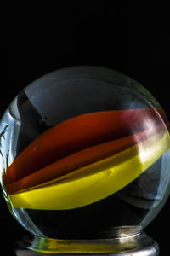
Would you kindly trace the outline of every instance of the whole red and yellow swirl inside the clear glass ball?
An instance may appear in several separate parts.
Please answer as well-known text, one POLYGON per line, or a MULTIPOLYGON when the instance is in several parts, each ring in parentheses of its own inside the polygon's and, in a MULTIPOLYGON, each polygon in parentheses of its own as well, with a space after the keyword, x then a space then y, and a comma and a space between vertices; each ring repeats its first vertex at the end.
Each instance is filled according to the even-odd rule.
POLYGON ((85 113, 54 125, 8 166, 3 184, 14 207, 86 206, 127 186, 170 148, 161 109, 85 113))

